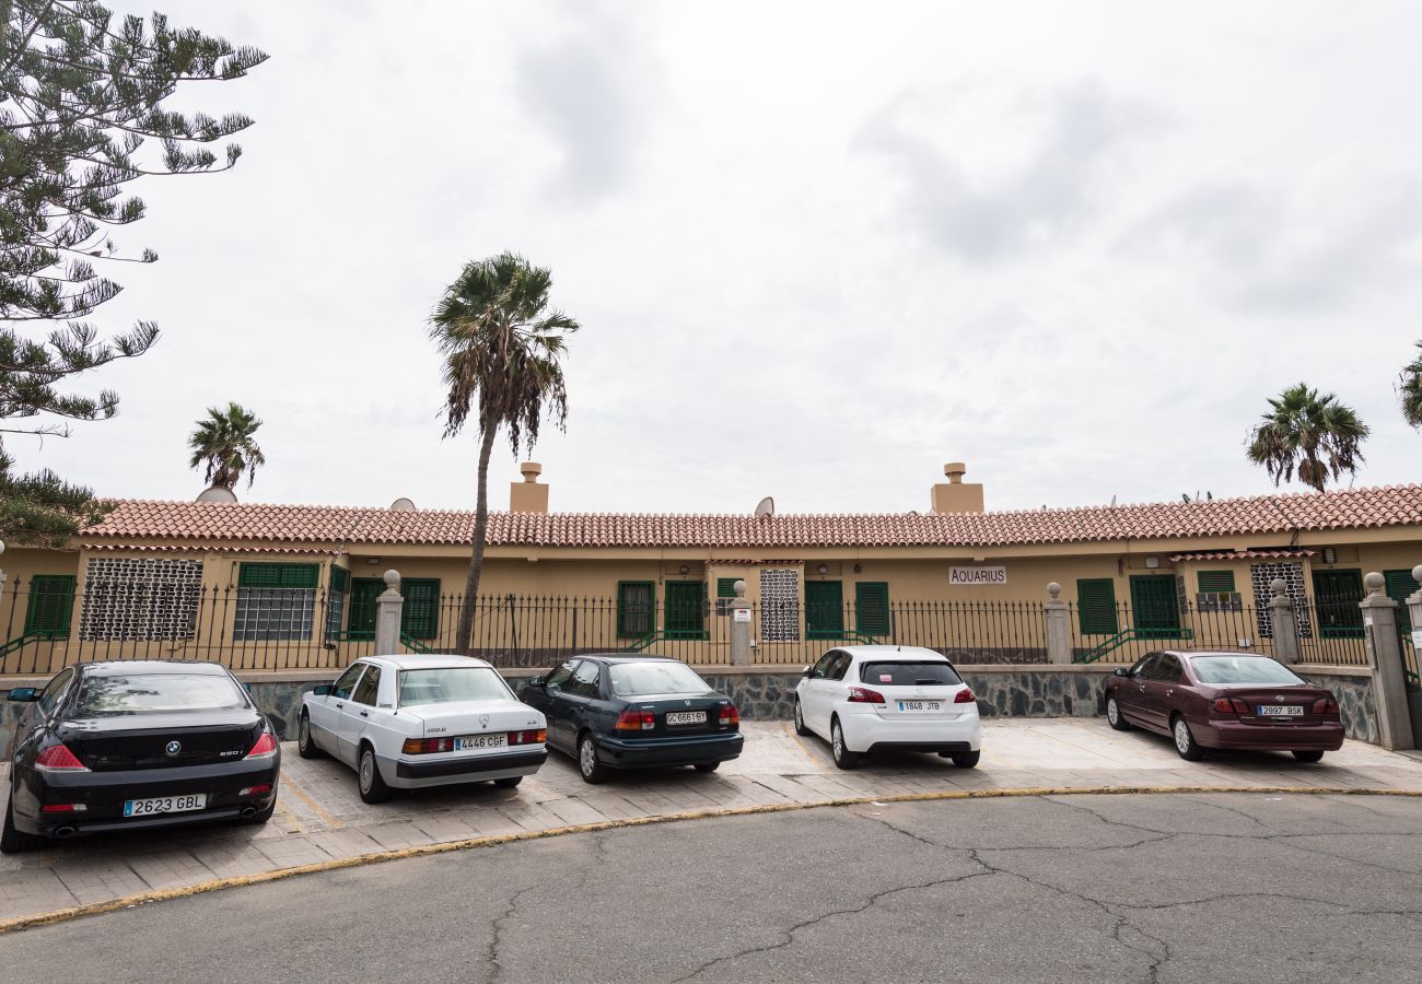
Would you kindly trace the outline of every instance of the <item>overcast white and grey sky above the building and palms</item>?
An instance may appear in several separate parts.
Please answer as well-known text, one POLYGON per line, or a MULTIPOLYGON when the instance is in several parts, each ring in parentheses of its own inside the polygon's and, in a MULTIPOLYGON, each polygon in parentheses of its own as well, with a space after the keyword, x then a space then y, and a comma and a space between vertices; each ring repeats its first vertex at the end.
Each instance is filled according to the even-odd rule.
MULTIPOLYGON (((118 418, 10 438, 98 492, 189 499, 185 439, 264 421, 243 501, 472 508, 425 334, 513 249, 583 324, 556 510, 990 509, 1249 495, 1264 398, 1372 427, 1422 338, 1422 11, 1409 3, 152 0, 272 58, 185 107, 256 125, 152 179, 97 321, 118 418)), ((503 442, 491 503, 518 478, 503 442)))

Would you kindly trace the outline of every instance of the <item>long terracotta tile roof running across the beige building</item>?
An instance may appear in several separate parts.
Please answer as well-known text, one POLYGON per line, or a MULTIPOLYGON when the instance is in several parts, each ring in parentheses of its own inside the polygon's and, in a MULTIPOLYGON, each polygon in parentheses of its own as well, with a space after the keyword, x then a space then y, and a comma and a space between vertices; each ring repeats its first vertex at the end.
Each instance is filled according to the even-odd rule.
MULTIPOLYGON (((1152 505, 919 515, 489 513, 491 546, 694 546, 727 550, 884 546, 1012 546, 1092 540, 1250 536, 1422 525, 1422 485, 1152 505)), ((455 545, 468 510, 121 501, 87 539, 455 545)), ((744 555, 742 555, 744 556, 744 555)), ((785 556, 785 553, 779 553, 785 556)))

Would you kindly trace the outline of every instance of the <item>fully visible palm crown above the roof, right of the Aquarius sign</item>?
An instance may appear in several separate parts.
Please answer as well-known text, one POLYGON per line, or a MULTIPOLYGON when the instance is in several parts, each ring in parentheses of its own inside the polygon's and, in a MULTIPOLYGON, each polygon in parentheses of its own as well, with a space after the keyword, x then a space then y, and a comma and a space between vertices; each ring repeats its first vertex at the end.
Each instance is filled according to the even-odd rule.
POLYGON ((1268 412, 1250 435, 1249 458, 1263 465, 1274 485, 1298 481, 1320 492, 1340 475, 1355 475, 1362 464, 1368 425, 1334 394, 1320 395, 1300 383, 1268 401, 1268 412))

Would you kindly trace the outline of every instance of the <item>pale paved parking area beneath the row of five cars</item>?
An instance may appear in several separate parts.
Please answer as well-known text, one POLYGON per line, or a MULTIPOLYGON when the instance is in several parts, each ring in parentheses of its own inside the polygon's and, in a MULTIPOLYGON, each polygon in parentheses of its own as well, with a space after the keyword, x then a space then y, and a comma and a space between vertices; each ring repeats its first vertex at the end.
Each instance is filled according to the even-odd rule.
MULTIPOLYGON (((518 789, 455 786, 397 795, 378 806, 360 801, 350 769, 330 759, 304 761, 287 744, 277 812, 266 826, 135 832, 0 857, 0 920, 401 847, 694 811, 1022 788, 1422 792, 1422 759, 1359 742, 1347 742, 1317 765, 1284 754, 1185 762, 1165 738, 1115 732, 1098 720, 1003 720, 984 728, 977 769, 904 754, 842 772, 822 741, 796 737, 788 722, 747 722, 744 755, 710 775, 629 772, 589 786, 569 759, 553 754, 518 789)), ((685 830, 694 836, 695 828, 685 830)))

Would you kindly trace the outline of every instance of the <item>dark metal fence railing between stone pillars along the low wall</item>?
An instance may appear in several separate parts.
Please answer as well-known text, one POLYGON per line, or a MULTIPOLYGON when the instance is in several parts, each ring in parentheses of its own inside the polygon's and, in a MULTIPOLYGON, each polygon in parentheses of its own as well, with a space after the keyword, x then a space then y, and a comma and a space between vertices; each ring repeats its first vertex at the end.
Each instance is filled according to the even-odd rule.
MULTIPOLYGON (((0 590, 0 673, 48 674, 92 660, 193 658, 235 670, 334 670, 375 650, 375 596, 320 589, 98 582, 75 592, 61 576, 0 590)), ((401 644, 412 653, 466 651, 495 665, 547 667, 580 653, 658 653, 690 664, 731 661, 728 599, 631 604, 603 597, 491 594, 404 601, 401 644)), ((1133 663, 1146 651, 1217 647, 1273 654, 1267 609, 1130 604, 1068 609, 1076 661, 1133 663)), ((1357 603, 1295 607, 1304 663, 1367 664, 1357 603)), ((964 664, 1047 663, 1042 601, 893 601, 819 606, 755 603, 751 661, 803 665, 855 643, 923 646, 964 664)), ((1415 660, 1415 656, 1412 657, 1415 660)), ((1415 670, 1415 667, 1413 667, 1415 670)))

